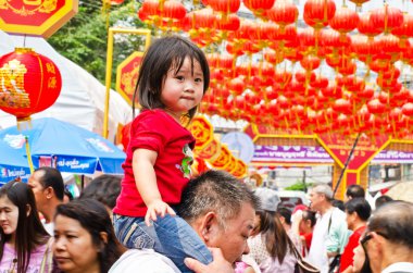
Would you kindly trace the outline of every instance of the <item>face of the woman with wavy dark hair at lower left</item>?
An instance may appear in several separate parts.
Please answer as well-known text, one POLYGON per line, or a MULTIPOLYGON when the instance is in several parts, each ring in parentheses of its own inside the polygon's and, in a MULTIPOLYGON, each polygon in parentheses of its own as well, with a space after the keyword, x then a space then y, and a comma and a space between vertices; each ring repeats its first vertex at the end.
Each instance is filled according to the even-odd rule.
POLYGON ((100 272, 98 249, 89 232, 71 218, 55 218, 53 257, 66 273, 100 272))

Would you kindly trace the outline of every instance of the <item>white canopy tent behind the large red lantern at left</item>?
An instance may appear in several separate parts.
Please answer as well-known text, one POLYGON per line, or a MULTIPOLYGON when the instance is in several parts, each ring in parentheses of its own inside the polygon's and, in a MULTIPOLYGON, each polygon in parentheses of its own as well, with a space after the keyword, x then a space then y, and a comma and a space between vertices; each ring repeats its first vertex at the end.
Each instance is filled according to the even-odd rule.
MULTIPOLYGON (((55 117, 98 134, 103 129, 105 87, 84 69, 59 54, 43 38, 8 35, 0 30, 0 57, 27 47, 51 59, 62 75, 62 91, 49 109, 32 119, 55 117)), ((114 139, 118 124, 132 121, 132 108, 120 94, 111 90, 109 110, 109 139, 114 139)), ((0 110, 0 129, 15 125, 16 120, 0 110)))

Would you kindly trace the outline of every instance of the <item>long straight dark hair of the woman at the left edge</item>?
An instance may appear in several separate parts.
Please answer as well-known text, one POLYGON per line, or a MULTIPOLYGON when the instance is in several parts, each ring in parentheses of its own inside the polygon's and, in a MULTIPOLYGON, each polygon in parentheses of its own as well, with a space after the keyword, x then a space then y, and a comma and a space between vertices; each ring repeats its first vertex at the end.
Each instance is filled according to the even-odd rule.
MULTIPOLYGON (((43 245, 49 239, 40 222, 36 208, 36 200, 32 189, 27 184, 12 181, 0 188, 0 198, 7 197, 18 208, 17 228, 15 231, 15 248, 17 252, 17 273, 27 271, 30 262, 30 253, 39 245, 43 245), (30 213, 27 216, 27 208, 30 213)), ((0 228, 0 260, 3 257, 4 244, 11 238, 0 228)))

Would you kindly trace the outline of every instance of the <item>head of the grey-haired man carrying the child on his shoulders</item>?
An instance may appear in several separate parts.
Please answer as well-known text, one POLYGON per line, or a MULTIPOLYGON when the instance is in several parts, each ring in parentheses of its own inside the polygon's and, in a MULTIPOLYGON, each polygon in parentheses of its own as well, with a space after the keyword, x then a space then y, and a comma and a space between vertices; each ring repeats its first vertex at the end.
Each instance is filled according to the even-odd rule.
POLYGON ((259 202, 233 175, 211 170, 189 182, 177 211, 206 246, 221 248, 225 259, 235 262, 249 251, 247 238, 259 202))

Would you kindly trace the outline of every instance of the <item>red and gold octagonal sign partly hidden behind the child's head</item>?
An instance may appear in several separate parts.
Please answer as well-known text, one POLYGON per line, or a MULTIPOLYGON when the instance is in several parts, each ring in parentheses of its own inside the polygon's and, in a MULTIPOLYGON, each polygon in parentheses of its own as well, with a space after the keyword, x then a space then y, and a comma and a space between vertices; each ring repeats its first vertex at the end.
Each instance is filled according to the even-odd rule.
POLYGON ((116 70, 116 90, 130 106, 134 99, 142 57, 142 52, 134 52, 120 63, 116 70))

